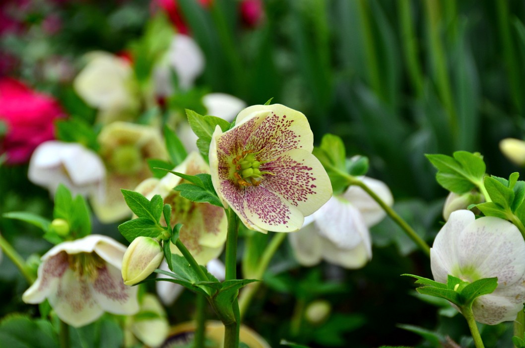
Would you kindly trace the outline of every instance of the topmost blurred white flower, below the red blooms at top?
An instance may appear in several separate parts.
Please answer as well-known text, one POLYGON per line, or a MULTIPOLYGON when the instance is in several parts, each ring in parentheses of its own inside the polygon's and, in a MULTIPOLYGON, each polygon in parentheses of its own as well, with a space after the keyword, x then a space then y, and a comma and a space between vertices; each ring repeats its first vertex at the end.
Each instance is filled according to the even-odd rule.
POLYGON ((191 37, 175 35, 161 63, 155 68, 153 76, 155 94, 158 96, 166 97, 174 92, 170 69, 175 71, 178 86, 183 90, 191 88, 195 79, 203 72, 204 55, 191 37))

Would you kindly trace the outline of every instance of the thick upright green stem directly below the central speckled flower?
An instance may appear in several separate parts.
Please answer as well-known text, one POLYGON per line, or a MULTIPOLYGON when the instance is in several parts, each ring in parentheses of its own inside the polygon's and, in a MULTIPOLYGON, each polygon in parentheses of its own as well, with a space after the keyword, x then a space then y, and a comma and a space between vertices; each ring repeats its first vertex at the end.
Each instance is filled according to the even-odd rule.
MULTIPOLYGON (((239 229, 239 220, 232 208, 228 213, 228 232, 226 236, 226 277, 225 280, 237 279, 237 233, 239 229)), ((235 321, 225 323, 224 325, 224 348, 238 348, 240 314, 239 303, 235 299, 232 303, 235 321)))

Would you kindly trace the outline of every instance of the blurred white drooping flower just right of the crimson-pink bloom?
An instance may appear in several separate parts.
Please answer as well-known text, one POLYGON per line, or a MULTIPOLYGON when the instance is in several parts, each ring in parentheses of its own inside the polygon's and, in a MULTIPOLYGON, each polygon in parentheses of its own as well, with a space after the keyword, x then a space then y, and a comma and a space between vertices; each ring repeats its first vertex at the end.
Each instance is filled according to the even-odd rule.
POLYGON ((27 176, 52 195, 64 184, 74 196, 104 197, 106 167, 99 155, 78 143, 41 143, 31 156, 27 176))

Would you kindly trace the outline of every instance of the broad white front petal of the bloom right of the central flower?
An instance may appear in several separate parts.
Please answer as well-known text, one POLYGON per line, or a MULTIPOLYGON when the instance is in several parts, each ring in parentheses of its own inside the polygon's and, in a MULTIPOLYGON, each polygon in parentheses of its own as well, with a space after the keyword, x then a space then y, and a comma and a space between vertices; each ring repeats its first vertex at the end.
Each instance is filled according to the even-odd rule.
MULTIPOLYGON (((358 209, 349 202, 332 197, 316 213, 314 224, 321 236, 343 249, 353 249, 370 240, 369 231, 358 209)), ((370 243, 367 243, 370 249, 370 243)))

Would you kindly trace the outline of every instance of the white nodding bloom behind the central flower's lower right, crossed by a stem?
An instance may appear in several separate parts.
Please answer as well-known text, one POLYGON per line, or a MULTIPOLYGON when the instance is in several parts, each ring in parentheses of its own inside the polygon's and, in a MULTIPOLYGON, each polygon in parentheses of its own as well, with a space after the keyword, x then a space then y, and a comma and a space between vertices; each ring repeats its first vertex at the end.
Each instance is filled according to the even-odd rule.
MULTIPOLYGON (((370 177, 361 181, 388 206, 394 203, 383 182, 370 177)), ((363 267, 372 259, 369 227, 385 215, 361 187, 350 186, 307 217, 300 231, 289 235, 297 261, 303 266, 314 266, 324 259, 344 268, 363 267)))

